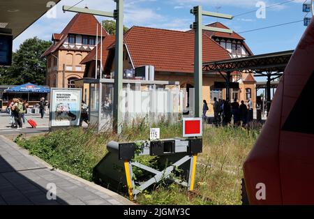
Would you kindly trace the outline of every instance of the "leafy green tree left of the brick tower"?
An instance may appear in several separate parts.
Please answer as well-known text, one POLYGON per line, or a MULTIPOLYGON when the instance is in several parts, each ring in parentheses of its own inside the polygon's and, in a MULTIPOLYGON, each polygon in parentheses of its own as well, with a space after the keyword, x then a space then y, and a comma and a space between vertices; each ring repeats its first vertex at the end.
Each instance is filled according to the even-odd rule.
POLYGON ((0 84, 45 84, 46 59, 40 56, 50 45, 37 37, 25 40, 13 52, 12 66, 0 68, 0 84))

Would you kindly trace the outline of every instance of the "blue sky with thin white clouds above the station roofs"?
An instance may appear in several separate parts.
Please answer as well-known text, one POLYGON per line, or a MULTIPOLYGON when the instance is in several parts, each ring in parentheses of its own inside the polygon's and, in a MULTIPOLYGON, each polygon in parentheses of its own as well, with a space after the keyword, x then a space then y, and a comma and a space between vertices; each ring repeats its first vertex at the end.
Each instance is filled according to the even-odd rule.
MULTIPOLYGON (((264 17, 261 17, 262 14, 260 13, 257 14, 259 16, 256 15, 256 10, 260 9, 257 6, 261 6, 263 3, 265 6, 271 6, 283 1, 287 0, 265 0, 262 3, 257 0, 124 0, 124 25, 126 27, 136 25, 186 31, 194 20, 194 16, 190 14, 190 9, 200 5, 203 10, 234 15, 233 20, 203 16, 203 24, 222 22, 246 38, 246 43, 253 54, 293 50, 306 29, 303 22, 241 33, 251 29, 303 20, 306 15, 302 12, 304 0, 294 0, 266 8, 264 17), (239 15, 253 10, 253 13, 239 15)), ((73 6, 78 2, 80 0, 61 0, 54 6, 55 16, 52 16, 52 11, 46 13, 15 38, 13 50, 17 50, 24 40, 34 36, 43 40, 51 40, 52 33, 60 33, 75 15, 75 13, 70 12, 63 13, 62 6, 73 6)), ((77 4, 77 7, 85 6, 90 9, 112 11, 115 8, 115 3, 112 0, 84 0, 77 4)), ((107 20, 105 17, 97 17, 97 19, 99 21, 107 20)))

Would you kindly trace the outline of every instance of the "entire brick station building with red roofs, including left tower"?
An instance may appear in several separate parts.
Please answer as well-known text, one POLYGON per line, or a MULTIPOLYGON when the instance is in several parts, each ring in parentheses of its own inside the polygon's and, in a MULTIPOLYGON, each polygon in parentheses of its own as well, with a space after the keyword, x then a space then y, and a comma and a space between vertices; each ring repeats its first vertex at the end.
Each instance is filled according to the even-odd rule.
MULTIPOLYGON (((220 22, 211 27, 228 29, 220 22)), ((84 84, 88 78, 113 78, 115 36, 103 31, 100 43, 100 23, 94 15, 77 13, 61 33, 52 34, 52 46, 43 54, 47 57, 47 86, 74 87, 80 84, 83 99, 88 102, 89 89, 84 84), (96 70, 96 28, 98 49, 96 70), (102 44, 102 47, 100 45, 102 44), (100 51, 102 50, 102 55, 100 51), (102 61, 100 62, 100 57, 102 61), (100 63, 103 74, 100 75, 100 63), (63 69, 64 67, 64 69, 63 69), (97 74, 97 75, 96 75, 97 74), (77 83, 78 82, 78 83, 77 83)), ((253 53, 239 34, 203 31, 203 62, 251 56, 253 53)), ((179 82, 184 89, 184 108, 189 106, 189 89, 193 88, 194 33, 149 27, 131 27, 124 34, 124 70, 134 73, 135 68, 154 66, 154 80, 179 82)), ((135 75, 126 79, 134 79, 135 75)), ((220 73, 203 75, 203 98, 213 113, 214 97, 225 99, 225 89, 214 86, 224 82, 220 73)), ((233 72, 232 82, 239 82, 239 89, 230 90, 230 99, 255 103, 255 78, 251 73, 233 72)), ((255 106, 255 104, 253 104, 255 106)))

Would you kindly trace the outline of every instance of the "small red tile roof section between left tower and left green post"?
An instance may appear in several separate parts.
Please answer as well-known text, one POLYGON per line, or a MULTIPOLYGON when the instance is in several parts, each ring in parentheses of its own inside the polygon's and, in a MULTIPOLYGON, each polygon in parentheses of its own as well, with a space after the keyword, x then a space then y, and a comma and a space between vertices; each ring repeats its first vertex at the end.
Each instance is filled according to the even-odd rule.
MULTIPOLYGON (((107 60, 108 50, 107 48, 112 45, 115 41, 114 35, 107 35, 103 38, 103 66, 105 66, 105 62, 107 60)), ((94 61, 96 59, 96 47, 87 54, 87 56, 81 61, 81 64, 85 64, 89 61, 94 61)), ((100 60, 100 43, 98 43, 98 60, 100 60)))

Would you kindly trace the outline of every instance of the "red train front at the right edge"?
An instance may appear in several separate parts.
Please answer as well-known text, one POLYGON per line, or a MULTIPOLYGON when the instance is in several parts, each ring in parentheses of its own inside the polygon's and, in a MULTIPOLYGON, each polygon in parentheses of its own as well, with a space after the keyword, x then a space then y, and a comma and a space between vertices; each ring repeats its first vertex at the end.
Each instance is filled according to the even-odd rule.
POLYGON ((314 204, 314 22, 278 84, 244 163, 249 204, 314 204))

